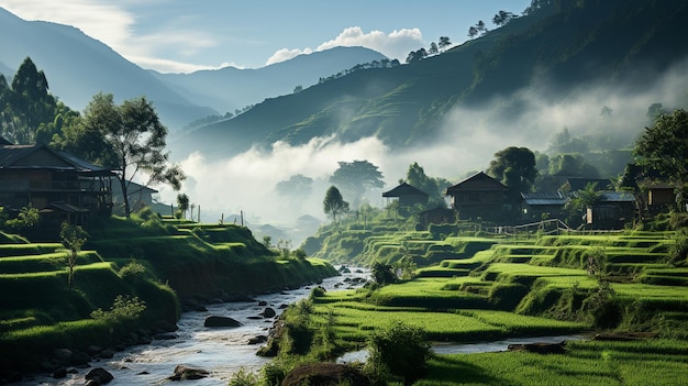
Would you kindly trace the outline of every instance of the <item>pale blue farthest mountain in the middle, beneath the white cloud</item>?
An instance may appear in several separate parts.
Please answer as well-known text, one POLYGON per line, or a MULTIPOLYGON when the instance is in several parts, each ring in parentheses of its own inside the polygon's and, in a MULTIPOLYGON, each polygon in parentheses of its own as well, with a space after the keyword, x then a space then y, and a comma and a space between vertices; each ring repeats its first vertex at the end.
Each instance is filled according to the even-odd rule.
POLYGON ((225 67, 191 74, 153 74, 182 95, 220 112, 234 112, 249 104, 293 92, 318 84, 320 78, 335 75, 358 64, 380 62, 387 57, 364 47, 334 47, 299 55, 292 59, 260 68, 225 67))

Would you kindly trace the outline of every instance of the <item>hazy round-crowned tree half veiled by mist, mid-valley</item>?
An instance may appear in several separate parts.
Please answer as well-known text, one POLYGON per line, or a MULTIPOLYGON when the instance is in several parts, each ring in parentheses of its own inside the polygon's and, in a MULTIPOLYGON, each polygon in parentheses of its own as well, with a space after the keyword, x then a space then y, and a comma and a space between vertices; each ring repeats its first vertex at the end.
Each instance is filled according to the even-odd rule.
POLYGON ((330 177, 330 183, 353 200, 358 208, 360 199, 371 188, 382 188, 382 173, 367 161, 339 162, 340 167, 330 177))

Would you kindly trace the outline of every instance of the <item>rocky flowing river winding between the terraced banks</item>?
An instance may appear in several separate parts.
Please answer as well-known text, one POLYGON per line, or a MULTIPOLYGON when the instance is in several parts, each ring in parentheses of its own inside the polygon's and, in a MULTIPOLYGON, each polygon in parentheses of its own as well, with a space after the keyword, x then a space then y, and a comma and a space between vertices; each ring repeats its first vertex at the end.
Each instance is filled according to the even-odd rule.
MULTIPOLYGON (((352 269, 355 271, 355 269, 352 269)), ((331 277, 321 284, 326 290, 359 287, 363 283, 349 284, 346 278, 369 279, 369 272, 356 271, 342 276, 331 277)), ((207 378, 193 381, 195 386, 226 385, 233 374, 241 368, 257 371, 269 362, 269 359, 256 355, 259 344, 247 344, 251 338, 267 335, 275 318, 263 318, 266 307, 277 313, 280 306, 297 302, 310 295, 312 286, 279 294, 256 296, 256 301, 229 302, 207 306, 207 312, 185 312, 177 322, 179 329, 174 340, 154 340, 151 344, 127 349, 116 353, 111 360, 91 362, 92 367, 103 367, 114 379, 108 385, 163 385, 170 381, 175 366, 182 364, 209 371, 207 378), (258 306, 266 301, 267 306, 258 306), (203 327, 209 316, 230 317, 241 321, 238 328, 210 329, 203 327), (255 319, 256 317, 259 317, 255 319)), ((88 372, 78 370, 67 378, 53 379, 49 376, 37 376, 25 379, 16 385, 84 385, 84 376, 88 372)))

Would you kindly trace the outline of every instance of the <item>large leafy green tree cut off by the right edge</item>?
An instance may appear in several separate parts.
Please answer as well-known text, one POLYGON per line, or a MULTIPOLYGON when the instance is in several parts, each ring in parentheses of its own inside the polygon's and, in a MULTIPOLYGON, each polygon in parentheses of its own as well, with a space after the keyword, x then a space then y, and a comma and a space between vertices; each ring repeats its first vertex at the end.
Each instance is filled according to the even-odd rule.
POLYGON ((688 113, 678 109, 663 114, 645 128, 635 143, 636 163, 654 170, 674 187, 679 211, 686 210, 688 200, 688 113))

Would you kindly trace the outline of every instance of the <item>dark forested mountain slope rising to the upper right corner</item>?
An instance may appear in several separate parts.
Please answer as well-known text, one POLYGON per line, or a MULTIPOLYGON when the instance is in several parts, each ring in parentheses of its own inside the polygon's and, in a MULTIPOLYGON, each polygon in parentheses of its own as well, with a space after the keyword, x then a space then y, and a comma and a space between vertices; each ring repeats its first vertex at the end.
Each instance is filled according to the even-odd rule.
MULTIPOLYGON (((469 151, 477 150, 465 143, 477 140, 481 131, 489 131, 480 135, 491 135, 493 142, 511 139, 542 148, 545 135, 577 122, 537 128, 536 122, 521 121, 536 117, 536 109, 561 103, 566 110, 566 103, 573 108, 577 99, 592 98, 595 91, 600 103, 608 92, 609 102, 620 103, 614 107, 621 110, 626 101, 619 96, 647 92, 673 68, 685 68, 686 0, 541 3, 545 5, 440 55, 354 71, 268 99, 176 139, 173 146, 177 154, 200 148, 208 158, 222 158, 256 144, 270 148, 277 141, 302 145, 313 137, 346 143, 375 136, 393 150, 437 141, 450 130, 455 136, 444 142, 456 141, 469 151), (447 123, 457 114, 465 117, 460 124, 447 123), (493 122, 486 129, 481 123, 488 119, 493 122)), ((677 80, 685 85, 685 78, 677 80)), ((662 102, 668 96, 657 92, 647 98, 662 102)), ((643 110, 641 115, 650 102, 636 107, 643 110)), ((600 108, 587 113, 599 119, 600 108)), ((569 113, 569 119, 588 119, 569 113)), ((604 130, 602 124, 607 123, 590 129, 604 130)), ((636 126, 628 130, 637 130, 645 122, 631 124, 636 126)))

